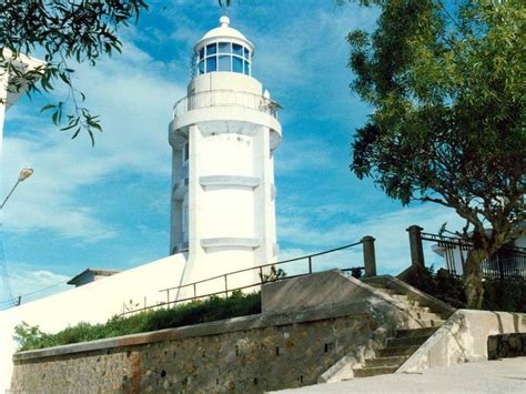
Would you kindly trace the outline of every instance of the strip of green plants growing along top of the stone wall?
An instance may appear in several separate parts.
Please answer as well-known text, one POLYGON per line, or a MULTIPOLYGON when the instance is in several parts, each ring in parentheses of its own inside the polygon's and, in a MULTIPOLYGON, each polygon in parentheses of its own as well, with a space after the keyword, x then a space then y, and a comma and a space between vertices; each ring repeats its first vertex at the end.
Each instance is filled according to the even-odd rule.
POLYGON ((261 294, 233 292, 229 297, 211 297, 178 305, 169 310, 146 311, 130 317, 113 316, 104 324, 81 322, 48 334, 24 322, 14 329, 18 351, 30 351, 149 331, 180 327, 223 319, 261 313, 261 294))

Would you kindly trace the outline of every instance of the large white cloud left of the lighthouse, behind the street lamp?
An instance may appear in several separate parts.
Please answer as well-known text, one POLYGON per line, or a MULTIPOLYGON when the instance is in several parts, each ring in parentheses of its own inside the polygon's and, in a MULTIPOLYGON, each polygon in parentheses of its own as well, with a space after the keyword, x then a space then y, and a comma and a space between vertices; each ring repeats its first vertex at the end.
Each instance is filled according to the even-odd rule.
POLYGON ((122 57, 77 73, 104 133, 95 135, 91 148, 87 135, 70 142, 47 119, 28 121, 27 113, 38 112, 34 108, 18 109, 16 123, 9 123, 8 113, 8 134, 11 124, 23 124, 27 132, 4 140, 3 189, 9 190, 22 166, 33 168, 34 175, 9 202, 7 231, 51 230, 84 242, 113 238, 118 228, 98 218, 97 201, 82 198, 85 188, 124 173, 170 176, 171 103, 184 91, 162 77, 170 73, 166 67, 127 43, 122 57))

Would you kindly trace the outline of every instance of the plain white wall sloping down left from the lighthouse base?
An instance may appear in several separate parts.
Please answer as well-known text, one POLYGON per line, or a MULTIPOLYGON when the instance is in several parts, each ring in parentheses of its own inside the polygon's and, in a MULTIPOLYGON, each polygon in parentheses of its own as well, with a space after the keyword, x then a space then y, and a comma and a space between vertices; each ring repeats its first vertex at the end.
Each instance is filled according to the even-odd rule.
POLYGON ((175 254, 80 287, 0 311, 0 393, 9 388, 11 380, 11 358, 17 348, 13 340, 17 324, 27 322, 30 325, 39 325, 44 332, 55 333, 79 322, 103 323, 122 312, 123 303, 131 300, 133 304, 139 303, 141 306, 144 297, 149 305, 165 301, 164 293, 159 290, 179 285, 184 264, 184 255, 175 254))

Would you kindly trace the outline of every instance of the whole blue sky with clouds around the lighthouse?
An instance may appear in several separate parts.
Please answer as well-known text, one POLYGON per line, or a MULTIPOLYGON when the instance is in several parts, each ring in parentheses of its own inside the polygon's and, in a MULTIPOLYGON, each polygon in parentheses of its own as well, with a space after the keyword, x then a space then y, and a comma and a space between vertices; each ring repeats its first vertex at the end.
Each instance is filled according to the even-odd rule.
MULTIPOLYGON (((104 125, 95 148, 85 135, 71 141, 39 113, 49 98, 24 98, 8 112, 3 195, 22 166, 34 169, 2 218, 14 294, 65 282, 87 267, 127 270, 168 254, 171 109, 185 95, 193 44, 220 16, 215 0, 151 1, 139 24, 122 31, 121 55, 77 67, 74 83, 104 125)), ((254 77, 284 107, 275 169, 281 257, 371 234, 378 271, 397 273, 409 261, 408 225, 429 232, 446 221, 458 226, 453 211, 402 208, 348 171, 354 130, 371 109, 348 89, 345 37, 372 29, 375 10, 331 0, 242 0, 229 16, 256 46, 254 77)), ((429 247, 426 255, 436 261, 429 247)), ((358 249, 318 266, 338 259, 362 264, 358 249)))

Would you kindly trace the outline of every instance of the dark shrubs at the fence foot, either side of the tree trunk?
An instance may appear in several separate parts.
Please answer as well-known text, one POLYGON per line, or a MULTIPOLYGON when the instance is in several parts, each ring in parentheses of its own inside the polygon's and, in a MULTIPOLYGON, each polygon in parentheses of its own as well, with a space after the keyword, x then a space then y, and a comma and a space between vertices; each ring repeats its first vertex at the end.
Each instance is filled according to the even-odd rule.
MULTIPOLYGON (((433 266, 414 272, 407 283, 431 294, 454 307, 466 307, 466 295, 462 279, 446 270, 435 274, 433 266)), ((504 312, 526 312, 526 281, 522 277, 493 280, 485 279, 483 310, 504 312)))

